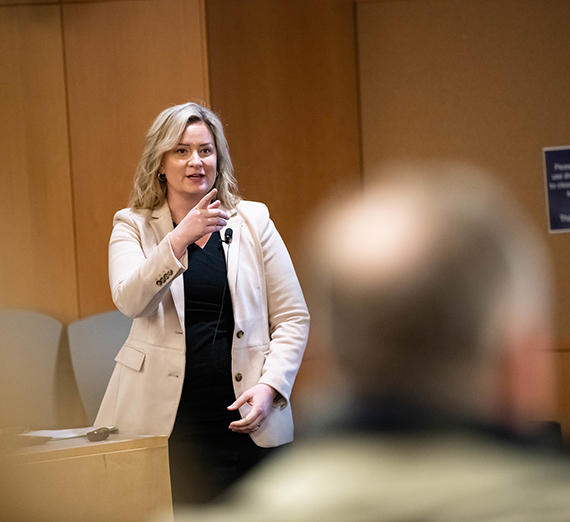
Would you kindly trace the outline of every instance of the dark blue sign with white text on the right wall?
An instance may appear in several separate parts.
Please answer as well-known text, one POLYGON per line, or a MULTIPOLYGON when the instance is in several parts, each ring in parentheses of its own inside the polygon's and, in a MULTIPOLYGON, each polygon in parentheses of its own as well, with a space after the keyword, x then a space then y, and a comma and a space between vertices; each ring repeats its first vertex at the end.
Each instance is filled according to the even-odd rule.
POLYGON ((570 231, 570 147, 544 147, 550 232, 570 231))

